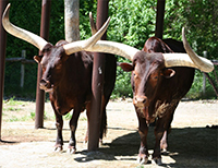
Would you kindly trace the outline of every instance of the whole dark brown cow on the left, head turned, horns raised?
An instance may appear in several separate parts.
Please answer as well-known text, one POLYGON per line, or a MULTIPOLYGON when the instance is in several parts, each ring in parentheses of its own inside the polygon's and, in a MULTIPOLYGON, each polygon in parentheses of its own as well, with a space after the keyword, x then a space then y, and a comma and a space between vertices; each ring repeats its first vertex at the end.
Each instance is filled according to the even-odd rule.
MULTIPOLYGON (((9 9, 10 4, 5 9, 2 17, 4 28, 10 34, 35 45, 41 51, 41 56, 35 56, 34 59, 41 65, 43 77, 40 80, 40 88, 49 93, 51 106, 56 115, 58 134, 55 149, 62 151, 62 116, 73 109, 73 116, 70 120, 71 139, 69 142, 69 151, 70 153, 75 153, 77 120, 84 109, 86 109, 87 117, 89 118, 92 97, 93 53, 83 50, 101 37, 107 29, 109 20, 99 32, 87 40, 71 44, 65 40, 60 40, 53 46, 41 37, 12 25, 9 21, 9 9)), ((106 132, 106 106, 114 86, 116 68, 116 58, 111 56, 106 57, 100 139, 102 139, 106 132)))

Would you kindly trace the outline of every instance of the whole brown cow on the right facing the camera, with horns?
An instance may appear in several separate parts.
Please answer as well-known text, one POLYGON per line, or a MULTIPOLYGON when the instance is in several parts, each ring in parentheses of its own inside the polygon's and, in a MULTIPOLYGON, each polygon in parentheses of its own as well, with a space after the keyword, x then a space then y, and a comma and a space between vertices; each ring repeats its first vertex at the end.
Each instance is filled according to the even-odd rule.
MULTIPOLYGON (((179 100, 192 85, 193 68, 204 72, 210 72, 214 69, 214 64, 209 60, 198 57, 192 50, 184 36, 184 28, 182 35, 183 45, 189 55, 171 52, 170 47, 162 41, 159 41, 159 45, 165 49, 160 47, 159 52, 156 52, 156 49, 145 52, 124 44, 105 40, 98 40, 87 49, 88 51, 119 55, 133 62, 132 64, 121 63, 120 65, 124 71, 132 71, 133 104, 138 117, 141 136, 138 161, 142 164, 148 160, 146 139, 149 123, 157 119, 153 159, 160 165, 160 140, 164 132, 167 132, 170 128, 173 111, 179 100)), ((177 50, 177 46, 172 48, 177 50)), ((147 49, 150 49, 150 47, 148 46, 147 49)), ((166 145, 166 143, 162 144, 166 145)))

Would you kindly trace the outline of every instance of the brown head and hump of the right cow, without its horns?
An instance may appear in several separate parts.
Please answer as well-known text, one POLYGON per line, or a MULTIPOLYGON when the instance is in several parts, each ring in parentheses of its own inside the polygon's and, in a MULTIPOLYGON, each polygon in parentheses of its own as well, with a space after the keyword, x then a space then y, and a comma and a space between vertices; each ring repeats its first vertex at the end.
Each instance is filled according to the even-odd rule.
POLYGON ((120 67, 124 71, 132 71, 133 104, 137 109, 143 110, 144 116, 149 120, 149 115, 145 113, 145 109, 148 109, 150 101, 157 97, 162 79, 170 79, 175 72, 166 68, 162 55, 157 53, 173 52, 161 39, 157 37, 148 38, 143 51, 134 56, 132 64, 120 63, 120 67))

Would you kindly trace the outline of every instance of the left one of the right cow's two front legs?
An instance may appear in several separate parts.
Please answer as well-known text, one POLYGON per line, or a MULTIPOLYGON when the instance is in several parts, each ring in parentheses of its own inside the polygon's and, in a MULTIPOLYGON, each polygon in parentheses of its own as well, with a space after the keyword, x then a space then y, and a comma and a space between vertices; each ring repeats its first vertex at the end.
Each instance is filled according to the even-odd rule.
POLYGON ((141 137, 141 146, 140 146, 140 152, 138 152, 138 157, 137 161, 140 164, 147 164, 148 161, 148 148, 147 148, 147 132, 148 132, 148 127, 146 124, 145 118, 142 118, 138 113, 138 133, 141 137))

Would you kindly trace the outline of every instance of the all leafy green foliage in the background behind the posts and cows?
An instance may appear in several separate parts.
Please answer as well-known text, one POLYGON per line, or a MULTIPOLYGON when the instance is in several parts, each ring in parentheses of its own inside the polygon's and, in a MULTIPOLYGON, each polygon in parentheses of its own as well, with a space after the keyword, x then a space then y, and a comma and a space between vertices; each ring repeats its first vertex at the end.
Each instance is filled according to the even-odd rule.
MULTIPOLYGON (((10 0, 10 20, 13 24, 39 35, 41 0, 10 0)), ((155 35, 156 5, 154 0, 110 0, 108 40, 124 43, 142 49, 147 38, 155 35)), ((97 0, 80 1, 81 39, 90 36, 88 13, 96 17, 97 0)), ((218 2, 217 0, 167 0, 164 38, 181 40, 181 29, 186 27, 186 36, 195 51, 202 56, 207 50, 209 59, 218 53, 218 2)), ((64 0, 51 1, 49 41, 56 44, 64 39, 64 0)), ((21 57, 25 49, 27 59, 38 55, 33 45, 8 35, 7 58, 21 57)), ((119 62, 128 61, 118 57, 119 62)), ((25 85, 20 88, 21 63, 5 64, 4 96, 35 98, 37 63, 25 65, 25 85)), ((216 70, 217 71, 217 70, 216 70)), ((218 73, 218 72, 217 72, 218 73)), ((131 73, 117 71, 117 82, 112 97, 132 96, 131 73)), ((213 79, 215 75, 209 74, 213 79)), ((196 72, 189 97, 201 97, 202 73, 196 72), (196 94, 199 93, 199 94, 196 94)), ((213 92, 207 82, 206 92, 213 92)), ((213 96, 211 96, 213 97, 213 96)), ((214 96, 215 97, 215 96, 214 96)))

